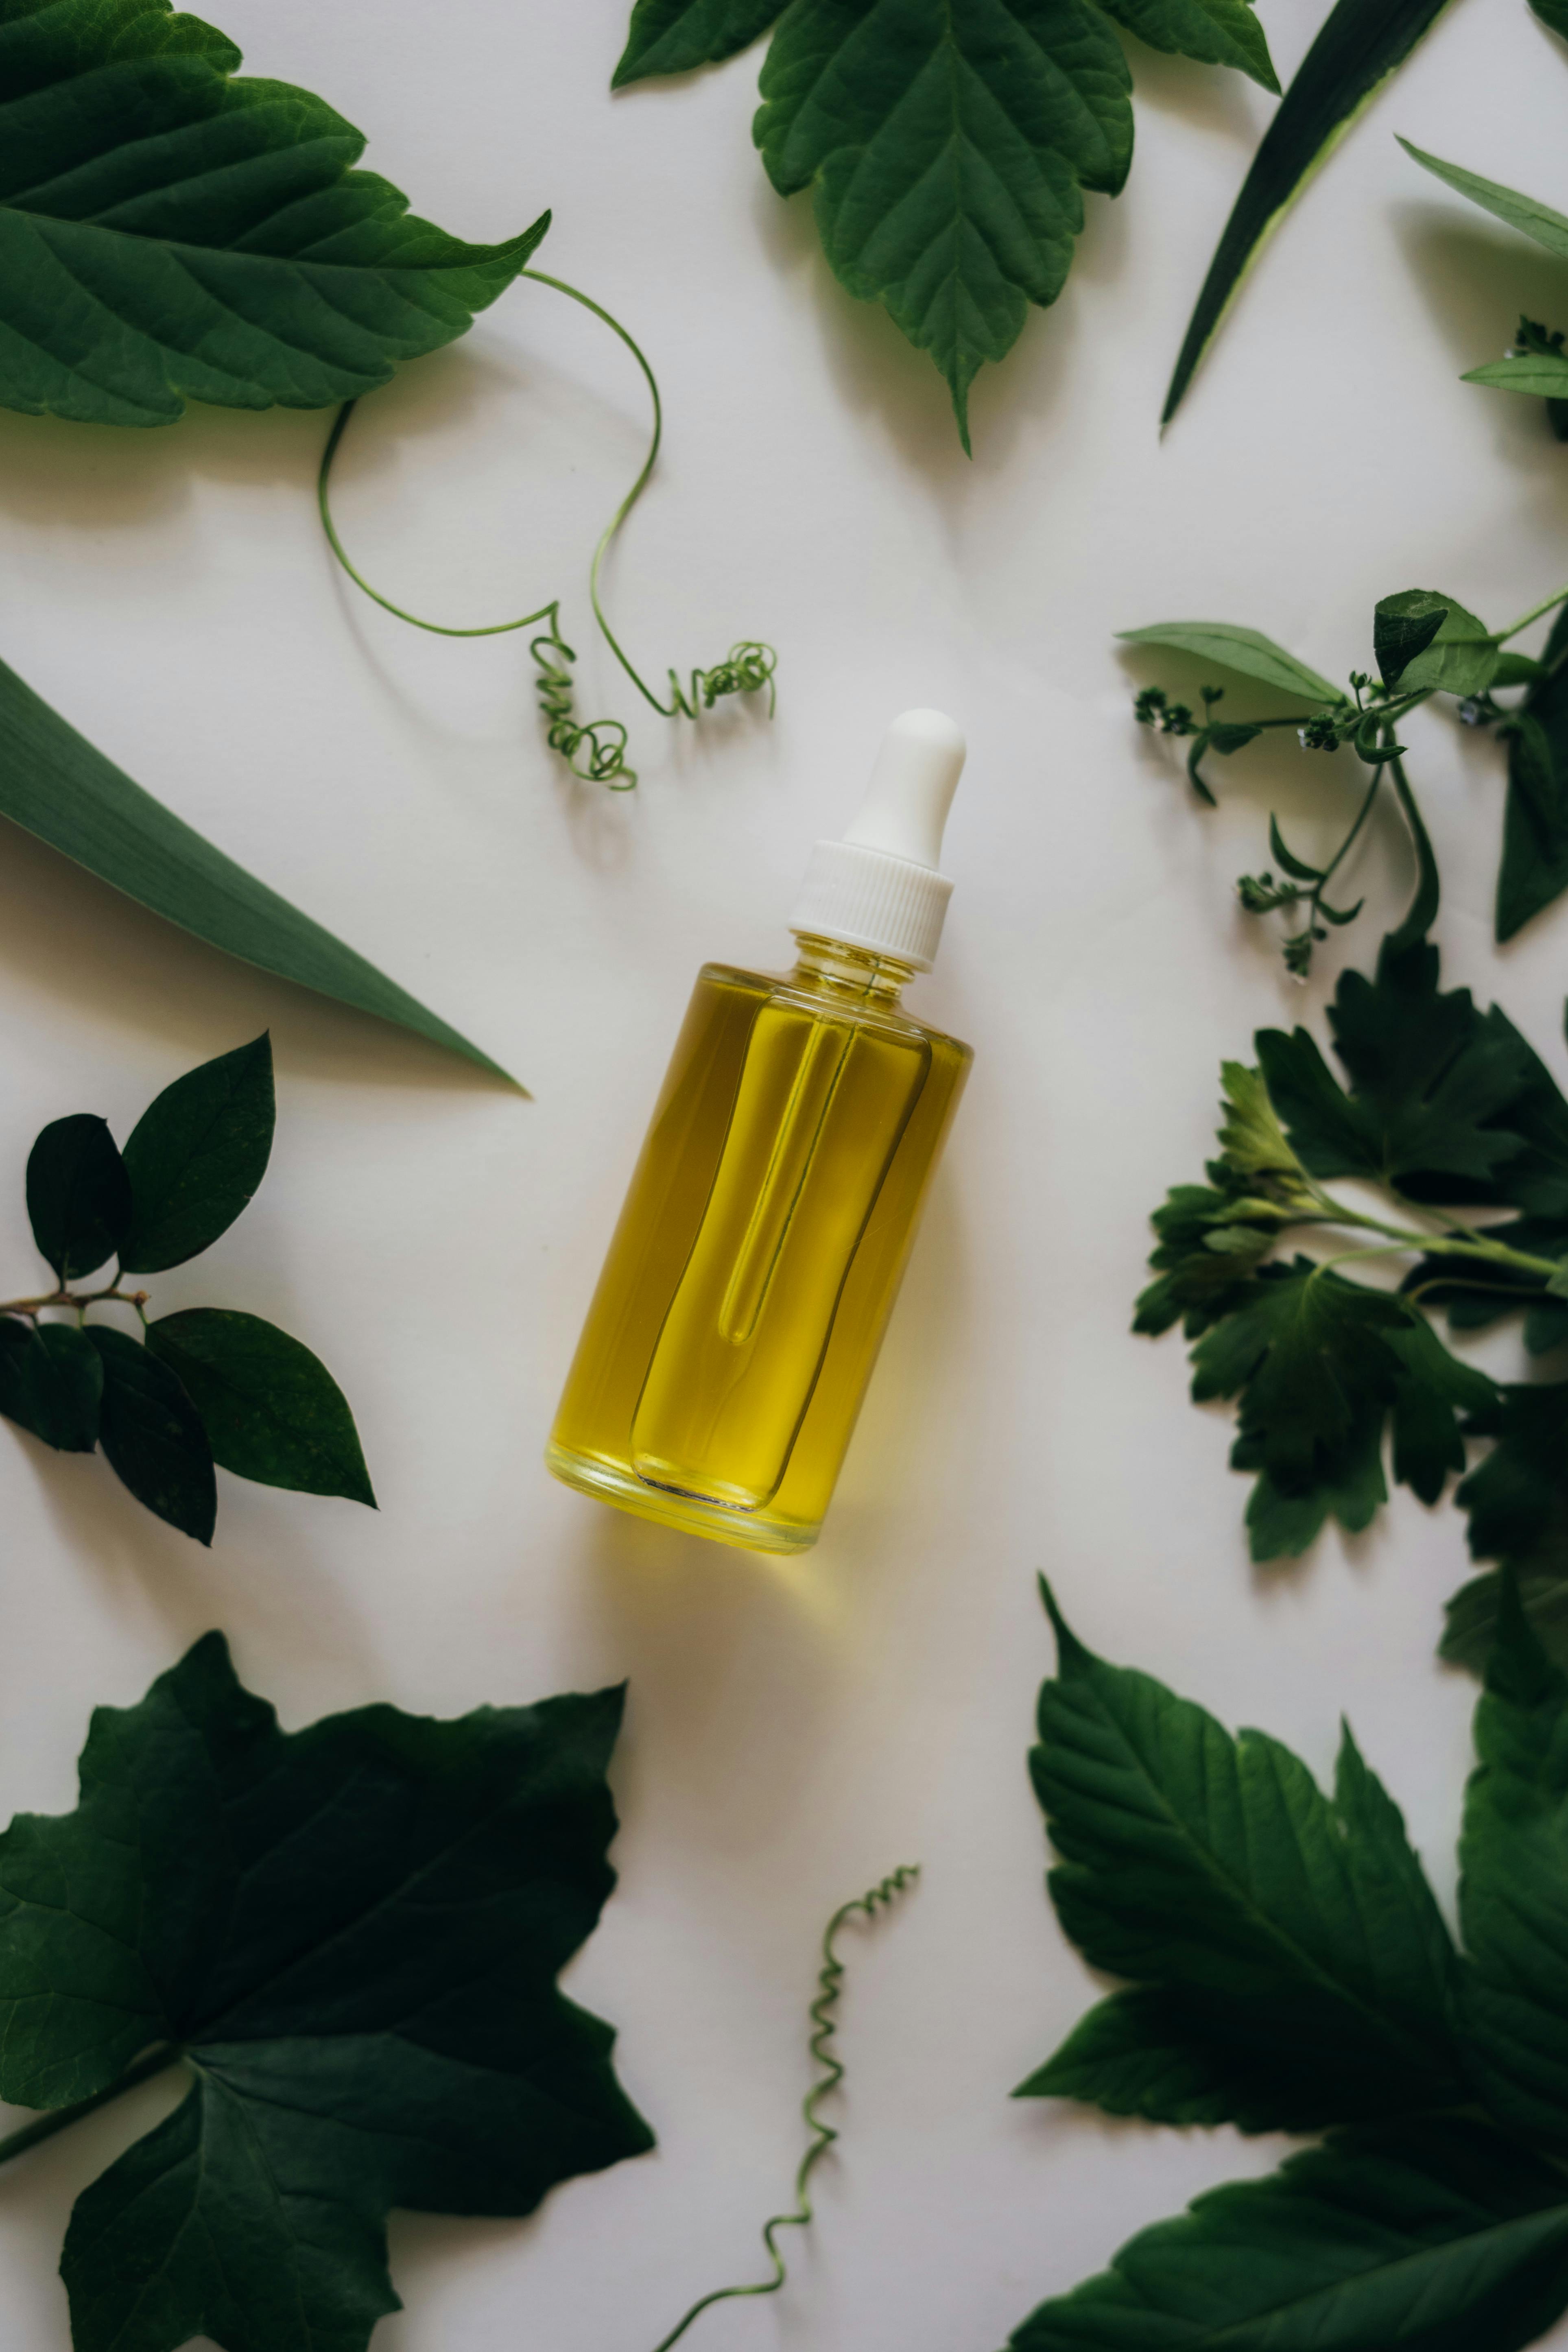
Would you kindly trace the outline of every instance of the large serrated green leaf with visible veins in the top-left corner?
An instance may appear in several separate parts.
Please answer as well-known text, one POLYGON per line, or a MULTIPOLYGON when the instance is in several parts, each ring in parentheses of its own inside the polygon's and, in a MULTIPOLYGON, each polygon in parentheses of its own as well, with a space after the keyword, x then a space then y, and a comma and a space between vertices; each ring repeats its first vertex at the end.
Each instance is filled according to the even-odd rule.
POLYGON ((364 136, 169 0, 0 5, 0 402, 162 426, 320 409, 440 350, 550 226, 463 245, 364 136))

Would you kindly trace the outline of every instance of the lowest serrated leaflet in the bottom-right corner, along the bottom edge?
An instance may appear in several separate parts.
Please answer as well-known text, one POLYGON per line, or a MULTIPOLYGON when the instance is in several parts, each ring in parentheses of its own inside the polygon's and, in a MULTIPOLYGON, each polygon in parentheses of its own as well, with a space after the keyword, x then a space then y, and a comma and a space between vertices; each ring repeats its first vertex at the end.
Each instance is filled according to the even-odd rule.
POLYGON ((1568 2305, 1563 2176, 1481 2124, 1338 2133, 1041 2303, 1013 2352, 1519 2352, 1568 2305))

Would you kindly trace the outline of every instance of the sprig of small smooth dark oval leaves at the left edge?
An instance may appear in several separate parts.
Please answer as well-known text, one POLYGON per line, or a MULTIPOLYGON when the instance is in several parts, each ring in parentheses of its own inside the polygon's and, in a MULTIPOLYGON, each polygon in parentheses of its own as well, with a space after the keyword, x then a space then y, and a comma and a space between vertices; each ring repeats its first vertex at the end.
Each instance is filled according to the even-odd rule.
POLYGON ((348 1399, 308 1348, 226 1308, 148 1317, 148 1294, 125 1287, 228 1232, 266 1174, 273 1117, 273 1047, 256 1037, 165 1087, 125 1150, 92 1112, 52 1120, 26 1188, 54 1289, 0 1303, 0 1414, 61 1454, 101 1446, 136 1501, 197 1543, 219 1510, 214 1465, 376 1501, 348 1399), (75 1287, 110 1258, 106 1282, 75 1287), (108 1305, 136 1315, 139 1338, 87 1319, 108 1305))

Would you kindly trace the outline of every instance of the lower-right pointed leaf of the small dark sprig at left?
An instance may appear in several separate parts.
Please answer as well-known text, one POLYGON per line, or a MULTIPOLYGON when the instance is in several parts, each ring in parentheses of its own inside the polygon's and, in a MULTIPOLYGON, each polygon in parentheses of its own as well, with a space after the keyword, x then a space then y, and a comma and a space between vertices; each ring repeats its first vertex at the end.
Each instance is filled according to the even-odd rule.
POLYGON ((195 1404, 212 1456, 237 1477, 376 1508, 348 1397, 320 1357, 261 1315, 160 1315, 148 1348, 195 1404))

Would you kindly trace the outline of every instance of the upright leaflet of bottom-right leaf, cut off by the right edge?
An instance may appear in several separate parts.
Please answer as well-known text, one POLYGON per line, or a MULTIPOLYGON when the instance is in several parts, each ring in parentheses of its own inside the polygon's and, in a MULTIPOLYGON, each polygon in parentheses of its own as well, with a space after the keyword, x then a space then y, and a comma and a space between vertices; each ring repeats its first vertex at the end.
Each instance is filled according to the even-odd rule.
POLYGON ((1505 1581, 1460 1839, 1465 2039, 1500 2122, 1568 2138, 1568 1682, 1505 1581))

